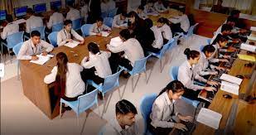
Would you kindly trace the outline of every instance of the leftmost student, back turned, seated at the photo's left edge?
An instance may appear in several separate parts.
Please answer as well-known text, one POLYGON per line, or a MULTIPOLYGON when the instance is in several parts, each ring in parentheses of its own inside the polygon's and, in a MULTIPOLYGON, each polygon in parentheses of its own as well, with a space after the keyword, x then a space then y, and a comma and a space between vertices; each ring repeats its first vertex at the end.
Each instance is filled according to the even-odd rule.
POLYGON ((6 40, 7 36, 12 35, 13 33, 16 33, 19 31, 19 25, 12 23, 13 22, 12 15, 8 14, 6 17, 6 21, 7 21, 7 26, 3 27, 1 32, 2 40, 6 40))

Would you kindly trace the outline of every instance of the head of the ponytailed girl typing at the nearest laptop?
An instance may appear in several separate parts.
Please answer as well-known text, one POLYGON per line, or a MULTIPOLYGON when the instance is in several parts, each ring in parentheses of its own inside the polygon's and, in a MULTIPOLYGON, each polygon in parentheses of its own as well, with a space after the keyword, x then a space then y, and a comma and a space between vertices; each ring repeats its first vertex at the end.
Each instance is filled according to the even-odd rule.
POLYGON ((184 94, 184 91, 184 85, 179 80, 173 80, 167 84, 166 88, 162 89, 158 96, 167 92, 169 99, 177 100, 181 99, 181 95, 184 94))

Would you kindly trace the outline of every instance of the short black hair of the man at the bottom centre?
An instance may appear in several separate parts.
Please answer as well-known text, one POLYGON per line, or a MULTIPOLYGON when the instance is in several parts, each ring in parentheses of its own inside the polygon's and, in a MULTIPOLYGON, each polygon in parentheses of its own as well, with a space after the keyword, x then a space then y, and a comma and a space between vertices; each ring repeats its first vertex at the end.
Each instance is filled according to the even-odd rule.
POLYGON ((116 114, 121 113, 124 115, 128 113, 137 114, 138 111, 131 102, 129 102, 126 99, 122 99, 118 101, 117 104, 115 104, 115 113, 116 114))

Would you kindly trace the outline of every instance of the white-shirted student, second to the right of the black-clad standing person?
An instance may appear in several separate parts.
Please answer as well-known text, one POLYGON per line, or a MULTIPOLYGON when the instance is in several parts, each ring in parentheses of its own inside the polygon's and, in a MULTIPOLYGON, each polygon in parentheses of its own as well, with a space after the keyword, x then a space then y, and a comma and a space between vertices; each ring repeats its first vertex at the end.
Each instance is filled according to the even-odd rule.
POLYGON ((167 44, 172 38, 171 28, 169 27, 167 18, 161 17, 157 20, 157 27, 162 32, 163 44, 167 44))

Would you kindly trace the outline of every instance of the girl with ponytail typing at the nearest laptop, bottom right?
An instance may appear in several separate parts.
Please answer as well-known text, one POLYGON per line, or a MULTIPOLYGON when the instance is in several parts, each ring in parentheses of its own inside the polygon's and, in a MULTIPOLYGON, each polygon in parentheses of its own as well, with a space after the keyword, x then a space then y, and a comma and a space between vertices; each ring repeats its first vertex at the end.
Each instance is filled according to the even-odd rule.
POLYGON ((175 108, 176 100, 181 99, 184 92, 184 85, 178 80, 171 81, 166 88, 162 89, 152 105, 151 123, 148 123, 149 131, 156 135, 163 135, 171 133, 172 128, 188 130, 180 121, 192 121, 193 118, 181 115, 175 108))

